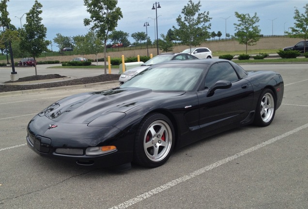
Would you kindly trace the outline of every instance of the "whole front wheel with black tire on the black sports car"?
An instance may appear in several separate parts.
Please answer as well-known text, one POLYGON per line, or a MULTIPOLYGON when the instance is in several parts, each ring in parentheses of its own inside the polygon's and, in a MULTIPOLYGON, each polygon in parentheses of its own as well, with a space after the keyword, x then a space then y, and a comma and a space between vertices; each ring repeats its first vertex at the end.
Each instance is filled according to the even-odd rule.
POLYGON ((142 119, 135 138, 134 163, 158 167, 169 159, 174 148, 174 130, 170 119, 152 113, 142 119))

